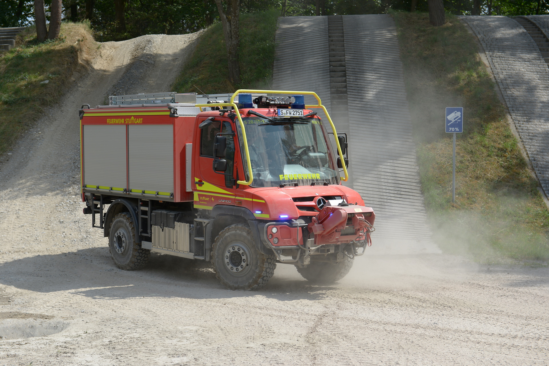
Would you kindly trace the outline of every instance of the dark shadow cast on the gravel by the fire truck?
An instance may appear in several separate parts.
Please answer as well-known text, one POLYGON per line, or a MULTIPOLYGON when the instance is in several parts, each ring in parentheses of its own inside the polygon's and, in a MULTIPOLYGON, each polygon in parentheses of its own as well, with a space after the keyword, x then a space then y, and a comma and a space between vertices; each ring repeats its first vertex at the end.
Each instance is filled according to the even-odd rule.
MULTIPOLYGON (((279 264, 279 267, 284 267, 279 264)), ((293 268, 278 268, 292 273, 293 268)), ((275 275, 276 276, 276 275, 275 275)), ((337 286, 316 286, 297 275, 278 276, 256 291, 225 289, 209 263, 153 254, 138 271, 121 271, 110 259, 108 247, 75 252, 37 255, 0 264, 0 283, 36 291, 68 291, 92 298, 180 297, 224 299, 265 296, 281 301, 318 300, 337 286)))

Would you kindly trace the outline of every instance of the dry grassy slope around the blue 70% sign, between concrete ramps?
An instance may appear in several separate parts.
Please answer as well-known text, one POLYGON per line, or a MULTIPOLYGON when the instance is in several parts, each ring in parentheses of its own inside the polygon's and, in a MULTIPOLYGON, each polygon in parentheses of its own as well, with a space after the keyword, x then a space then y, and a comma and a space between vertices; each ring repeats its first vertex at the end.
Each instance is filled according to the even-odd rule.
POLYGON ((452 15, 441 27, 431 26, 428 14, 393 15, 435 240, 446 252, 483 262, 548 260, 549 212, 473 35, 452 15), (452 139, 442 125, 446 106, 464 107, 455 204, 452 139))

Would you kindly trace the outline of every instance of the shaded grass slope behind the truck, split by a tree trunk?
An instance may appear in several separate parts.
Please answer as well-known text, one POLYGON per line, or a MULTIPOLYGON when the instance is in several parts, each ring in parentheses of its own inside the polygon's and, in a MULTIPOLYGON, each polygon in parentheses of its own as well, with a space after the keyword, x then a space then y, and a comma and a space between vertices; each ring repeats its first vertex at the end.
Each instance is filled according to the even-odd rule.
POLYGON ((240 15, 240 76, 242 83, 228 80, 227 51, 221 23, 201 36, 191 61, 172 85, 180 93, 232 93, 239 88, 270 88, 275 60, 278 10, 240 15))

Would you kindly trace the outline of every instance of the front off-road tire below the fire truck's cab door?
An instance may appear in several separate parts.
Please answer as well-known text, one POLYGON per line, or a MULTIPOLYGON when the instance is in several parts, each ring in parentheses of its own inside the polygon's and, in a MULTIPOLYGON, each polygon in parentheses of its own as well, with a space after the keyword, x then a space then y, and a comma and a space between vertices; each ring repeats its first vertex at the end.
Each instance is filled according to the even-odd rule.
POLYGON ((229 290, 259 289, 275 273, 276 257, 258 251, 253 238, 244 224, 228 226, 215 238, 211 262, 217 279, 229 290))

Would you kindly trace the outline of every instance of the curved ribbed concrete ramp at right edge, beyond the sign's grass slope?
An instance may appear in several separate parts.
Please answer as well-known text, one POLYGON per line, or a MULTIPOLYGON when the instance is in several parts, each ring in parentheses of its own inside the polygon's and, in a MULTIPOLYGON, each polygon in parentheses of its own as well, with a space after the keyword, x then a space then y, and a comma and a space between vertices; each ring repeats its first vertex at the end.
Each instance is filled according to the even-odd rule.
POLYGON ((549 194, 549 69, 540 49, 513 19, 460 18, 479 38, 541 187, 549 194))

